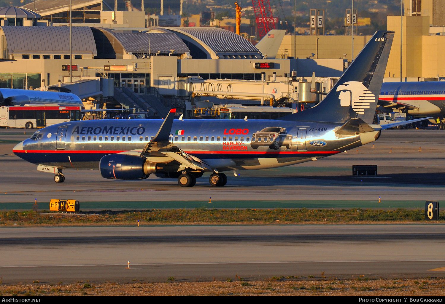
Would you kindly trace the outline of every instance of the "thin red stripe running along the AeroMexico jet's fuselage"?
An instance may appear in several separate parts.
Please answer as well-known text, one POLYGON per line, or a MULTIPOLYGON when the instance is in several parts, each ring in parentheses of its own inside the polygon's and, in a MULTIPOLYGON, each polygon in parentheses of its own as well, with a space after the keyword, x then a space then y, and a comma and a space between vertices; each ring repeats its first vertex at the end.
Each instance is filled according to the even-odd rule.
MULTIPOLYGON (((69 151, 69 150, 12 150, 14 153, 120 153, 125 151, 69 151)), ((265 154, 336 154, 339 151, 313 151, 313 152, 291 152, 291 151, 185 151, 190 154, 255 154, 255 155, 265 155, 265 154)))

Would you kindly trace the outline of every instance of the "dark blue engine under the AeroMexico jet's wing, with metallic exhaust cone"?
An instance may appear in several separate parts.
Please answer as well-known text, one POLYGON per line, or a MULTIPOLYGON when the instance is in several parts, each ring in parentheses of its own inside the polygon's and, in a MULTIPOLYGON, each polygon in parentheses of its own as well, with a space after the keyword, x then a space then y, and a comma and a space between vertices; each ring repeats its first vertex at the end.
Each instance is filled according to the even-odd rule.
POLYGON ((109 154, 101 158, 99 169, 102 177, 117 180, 143 180, 151 173, 156 173, 156 164, 150 163, 145 157, 109 154))

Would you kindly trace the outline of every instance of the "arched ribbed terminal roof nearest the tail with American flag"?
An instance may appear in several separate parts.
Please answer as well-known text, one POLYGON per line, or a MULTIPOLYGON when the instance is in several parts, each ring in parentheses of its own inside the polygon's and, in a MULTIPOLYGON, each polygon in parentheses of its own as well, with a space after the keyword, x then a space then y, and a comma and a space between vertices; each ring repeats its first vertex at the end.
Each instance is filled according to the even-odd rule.
POLYGON ((260 59, 261 52, 234 32, 214 27, 155 27, 152 31, 174 32, 190 49, 194 59, 260 59))

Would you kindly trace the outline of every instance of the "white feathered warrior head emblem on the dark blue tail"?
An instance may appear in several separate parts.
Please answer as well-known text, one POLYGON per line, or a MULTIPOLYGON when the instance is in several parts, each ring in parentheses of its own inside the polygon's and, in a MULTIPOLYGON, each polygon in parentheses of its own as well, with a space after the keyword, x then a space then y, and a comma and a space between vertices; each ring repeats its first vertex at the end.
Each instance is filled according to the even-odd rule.
POLYGON ((352 109, 358 114, 364 114, 364 109, 368 109, 371 102, 376 102, 376 96, 360 81, 347 81, 338 86, 338 91, 342 91, 338 96, 340 105, 352 105, 352 109))

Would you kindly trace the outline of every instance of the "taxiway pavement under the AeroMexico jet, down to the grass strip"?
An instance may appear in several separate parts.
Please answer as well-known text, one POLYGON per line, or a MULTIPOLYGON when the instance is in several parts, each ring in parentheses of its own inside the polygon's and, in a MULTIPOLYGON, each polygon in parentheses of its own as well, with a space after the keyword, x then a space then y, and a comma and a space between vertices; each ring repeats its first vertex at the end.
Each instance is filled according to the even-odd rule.
POLYGON ((220 202, 213 205, 219 208, 243 208, 245 201, 248 201, 245 207, 249 208, 255 207, 255 201, 269 202, 258 206, 264 208, 281 206, 280 202, 307 208, 392 208, 419 207, 425 200, 445 200, 445 131, 442 130, 384 130, 379 140, 358 151, 290 167, 239 171, 239 177, 227 172, 229 181, 223 188, 210 187, 208 174, 199 178, 195 187, 181 188, 176 180, 155 176, 138 181, 106 180, 98 170, 65 170, 65 183, 56 184, 52 174, 37 172, 35 165, 12 154, 14 144, 30 135, 23 129, 0 130, 0 209, 20 206, 29 209, 35 199, 47 204, 52 198, 88 202, 88 208, 102 202, 100 209, 127 208, 127 205, 193 208, 209 197, 215 204, 220 202), (354 164, 377 164, 379 177, 352 177, 354 164), (383 204, 376 204, 379 196, 383 204))

